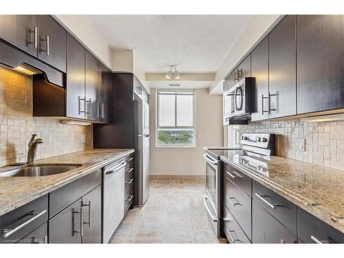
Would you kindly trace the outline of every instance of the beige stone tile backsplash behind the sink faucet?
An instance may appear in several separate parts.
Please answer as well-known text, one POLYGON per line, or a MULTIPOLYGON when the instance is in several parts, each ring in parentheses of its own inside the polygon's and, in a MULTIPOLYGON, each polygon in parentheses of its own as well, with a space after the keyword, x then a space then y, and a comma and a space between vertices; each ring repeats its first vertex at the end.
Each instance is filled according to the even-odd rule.
POLYGON ((32 117, 32 77, 0 67, 0 166, 24 162, 32 133, 43 138, 37 159, 92 149, 92 125, 32 117))

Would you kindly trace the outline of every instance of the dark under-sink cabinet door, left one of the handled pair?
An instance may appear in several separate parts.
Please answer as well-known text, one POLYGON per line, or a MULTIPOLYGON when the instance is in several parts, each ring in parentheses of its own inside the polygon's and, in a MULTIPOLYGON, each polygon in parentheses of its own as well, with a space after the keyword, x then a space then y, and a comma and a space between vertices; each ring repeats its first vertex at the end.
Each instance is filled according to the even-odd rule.
POLYGON ((50 244, 81 244, 81 199, 49 220, 50 244))

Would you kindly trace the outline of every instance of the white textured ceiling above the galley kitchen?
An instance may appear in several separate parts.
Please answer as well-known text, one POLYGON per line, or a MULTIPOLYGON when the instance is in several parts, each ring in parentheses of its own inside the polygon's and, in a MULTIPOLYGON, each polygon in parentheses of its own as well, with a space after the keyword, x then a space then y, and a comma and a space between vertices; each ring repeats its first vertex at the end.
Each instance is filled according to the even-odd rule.
POLYGON ((114 50, 133 50, 144 72, 215 72, 250 15, 89 15, 114 50))

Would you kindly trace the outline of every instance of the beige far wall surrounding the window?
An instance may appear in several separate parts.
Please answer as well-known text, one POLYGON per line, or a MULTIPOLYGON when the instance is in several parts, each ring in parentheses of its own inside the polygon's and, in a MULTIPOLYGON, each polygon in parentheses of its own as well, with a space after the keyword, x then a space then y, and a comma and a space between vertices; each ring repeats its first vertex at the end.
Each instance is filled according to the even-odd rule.
POLYGON ((155 147, 155 89, 149 98, 151 136, 151 175, 204 174, 203 147, 224 144, 222 96, 209 95, 208 89, 195 90, 195 148, 155 147), (202 137, 197 138, 197 133, 202 137))

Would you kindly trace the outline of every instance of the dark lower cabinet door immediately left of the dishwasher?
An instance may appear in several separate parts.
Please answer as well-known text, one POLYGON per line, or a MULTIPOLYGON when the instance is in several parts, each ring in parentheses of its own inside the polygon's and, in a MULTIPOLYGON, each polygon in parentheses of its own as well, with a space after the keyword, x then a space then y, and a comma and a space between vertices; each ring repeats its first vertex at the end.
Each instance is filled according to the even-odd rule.
POLYGON ((83 244, 102 242, 102 186, 87 193, 82 198, 83 206, 83 244))

